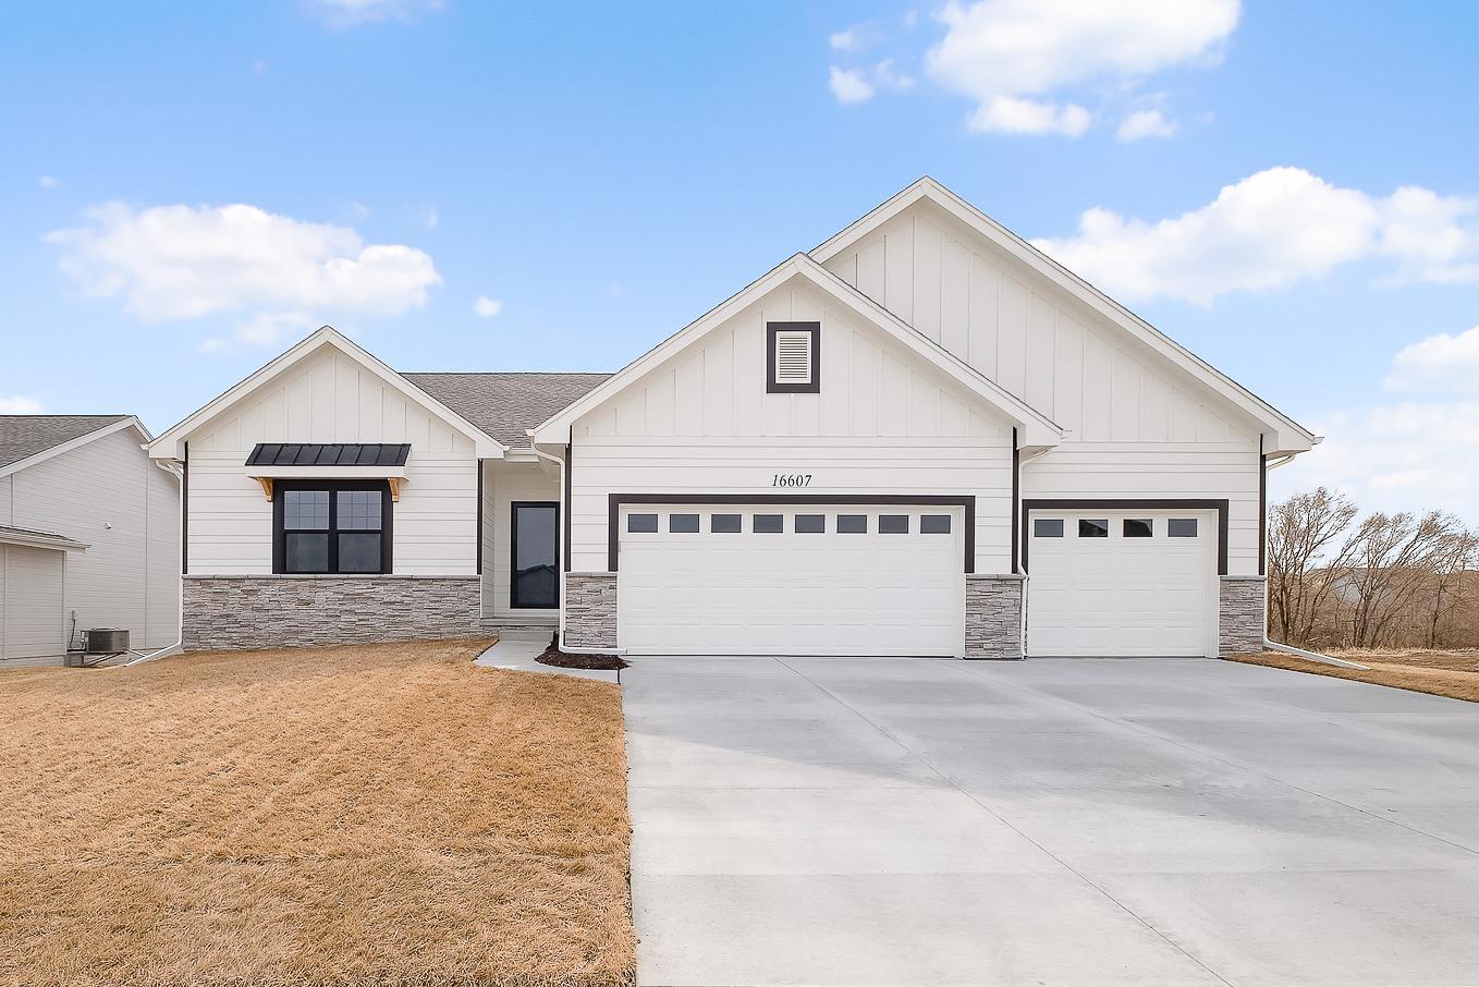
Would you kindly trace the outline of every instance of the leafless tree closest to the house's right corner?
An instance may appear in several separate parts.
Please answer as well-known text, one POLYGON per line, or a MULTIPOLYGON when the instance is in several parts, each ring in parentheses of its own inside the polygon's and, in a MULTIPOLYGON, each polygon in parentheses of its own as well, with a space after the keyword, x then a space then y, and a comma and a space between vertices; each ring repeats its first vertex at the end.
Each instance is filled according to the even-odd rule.
POLYGON ((1350 550, 1340 539, 1355 519, 1350 499, 1325 487, 1269 508, 1269 624, 1279 639, 1313 644, 1350 550))

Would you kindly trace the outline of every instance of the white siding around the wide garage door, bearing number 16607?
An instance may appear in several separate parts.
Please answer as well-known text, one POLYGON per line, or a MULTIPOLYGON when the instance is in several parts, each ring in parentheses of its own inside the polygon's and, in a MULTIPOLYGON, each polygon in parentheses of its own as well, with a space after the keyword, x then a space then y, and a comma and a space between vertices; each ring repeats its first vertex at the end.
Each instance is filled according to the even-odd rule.
POLYGON ((608 570, 608 494, 973 496, 978 571, 1010 565, 1012 426, 793 278, 572 428, 571 570, 608 570), (821 323, 819 394, 766 392, 765 326, 821 323), (776 476, 809 476, 803 487, 776 476))

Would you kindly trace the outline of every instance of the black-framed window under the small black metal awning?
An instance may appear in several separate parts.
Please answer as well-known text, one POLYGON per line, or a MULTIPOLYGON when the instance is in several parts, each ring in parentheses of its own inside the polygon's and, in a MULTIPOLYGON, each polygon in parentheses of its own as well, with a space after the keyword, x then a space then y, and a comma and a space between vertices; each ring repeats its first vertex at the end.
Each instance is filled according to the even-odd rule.
POLYGON ((390 485, 383 479, 274 484, 274 573, 389 573, 390 546, 390 485))

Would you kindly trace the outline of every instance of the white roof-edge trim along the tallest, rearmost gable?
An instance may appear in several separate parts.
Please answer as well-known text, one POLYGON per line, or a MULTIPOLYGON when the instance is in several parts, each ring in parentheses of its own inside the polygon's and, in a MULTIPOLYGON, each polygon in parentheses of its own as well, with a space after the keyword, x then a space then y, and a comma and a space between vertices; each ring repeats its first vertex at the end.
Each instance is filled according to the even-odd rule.
POLYGON ((1131 337, 1149 346, 1173 366, 1199 380, 1225 401, 1259 422, 1273 435, 1269 453, 1302 453, 1319 441, 1309 429, 1288 417, 1272 404, 1257 397, 1241 383, 1226 376, 1201 357, 1155 329, 1143 318, 1124 308, 1108 294, 1084 281, 1081 277, 1053 260, 1050 256, 1016 235, 979 209, 950 191, 935 179, 924 176, 892 197, 864 218, 850 223, 842 232, 830 237, 810 252, 818 262, 825 263, 849 246, 884 225, 910 206, 927 200, 957 220, 975 229, 985 240, 1025 263, 1035 274, 1078 299, 1097 315, 1120 327, 1131 337))

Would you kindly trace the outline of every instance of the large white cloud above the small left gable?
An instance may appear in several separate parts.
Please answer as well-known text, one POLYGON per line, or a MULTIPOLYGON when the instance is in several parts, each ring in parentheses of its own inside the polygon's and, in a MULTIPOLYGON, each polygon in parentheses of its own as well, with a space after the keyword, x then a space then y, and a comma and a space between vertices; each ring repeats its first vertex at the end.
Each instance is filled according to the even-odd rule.
POLYGON ((89 294, 120 297, 145 321, 389 317, 423 305, 441 284, 422 250, 365 244, 346 226, 254 206, 109 204, 90 210, 87 220, 47 235, 62 247, 62 269, 89 294))

